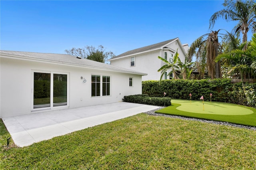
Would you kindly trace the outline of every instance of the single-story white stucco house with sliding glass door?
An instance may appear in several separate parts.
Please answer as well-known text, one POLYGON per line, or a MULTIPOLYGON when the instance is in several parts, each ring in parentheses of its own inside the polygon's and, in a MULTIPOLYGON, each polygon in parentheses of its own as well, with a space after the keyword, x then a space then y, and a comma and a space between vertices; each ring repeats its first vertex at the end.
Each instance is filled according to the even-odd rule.
POLYGON ((0 118, 122 101, 145 73, 67 54, 0 51, 0 118))

